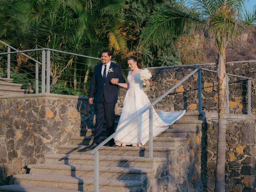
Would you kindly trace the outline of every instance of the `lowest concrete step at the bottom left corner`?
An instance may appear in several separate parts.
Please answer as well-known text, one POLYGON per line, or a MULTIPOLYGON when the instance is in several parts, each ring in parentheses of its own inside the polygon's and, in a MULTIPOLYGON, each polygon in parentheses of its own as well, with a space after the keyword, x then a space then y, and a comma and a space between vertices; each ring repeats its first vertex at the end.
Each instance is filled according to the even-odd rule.
MULTIPOLYGON (((58 189, 36 186, 5 185, 0 186, 0 192, 82 192, 81 190, 58 189)), ((85 192, 85 191, 83 191, 85 192)))

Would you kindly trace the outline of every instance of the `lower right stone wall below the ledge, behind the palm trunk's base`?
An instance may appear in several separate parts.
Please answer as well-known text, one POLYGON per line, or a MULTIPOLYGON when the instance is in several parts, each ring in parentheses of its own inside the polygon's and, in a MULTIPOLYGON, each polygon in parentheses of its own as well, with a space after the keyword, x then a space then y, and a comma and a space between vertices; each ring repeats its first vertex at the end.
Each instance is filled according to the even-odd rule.
MULTIPOLYGON (((208 121, 203 130, 202 182, 214 191, 218 122, 208 121)), ((255 121, 228 122, 226 132, 226 192, 256 191, 255 121)))

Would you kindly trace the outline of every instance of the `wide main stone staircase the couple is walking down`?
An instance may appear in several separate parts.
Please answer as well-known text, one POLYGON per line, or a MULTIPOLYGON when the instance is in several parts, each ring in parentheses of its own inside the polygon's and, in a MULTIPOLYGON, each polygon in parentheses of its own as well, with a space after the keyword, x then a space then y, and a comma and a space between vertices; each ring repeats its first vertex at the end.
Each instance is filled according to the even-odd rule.
MULTIPOLYGON (((202 128, 202 120, 198 119, 198 112, 188 112, 154 138, 154 158, 148 158, 148 143, 144 147, 103 146, 99 150, 100 191, 176 191, 186 182, 186 176, 194 174, 191 166, 200 164, 193 159, 202 128)), ((0 186, 0 191, 92 192, 94 155, 84 149, 92 143, 93 131, 80 130, 68 144, 59 146, 58 154, 45 155, 43 164, 29 165, 29 174, 14 175, 10 185, 0 186)), ((106 130, 103 134, 105 139, 106 130)))

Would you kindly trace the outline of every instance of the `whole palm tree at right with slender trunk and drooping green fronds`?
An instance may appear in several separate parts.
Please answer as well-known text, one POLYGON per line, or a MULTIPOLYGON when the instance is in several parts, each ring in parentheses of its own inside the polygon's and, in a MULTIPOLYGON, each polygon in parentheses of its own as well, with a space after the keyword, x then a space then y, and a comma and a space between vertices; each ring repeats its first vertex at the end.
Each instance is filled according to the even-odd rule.
POLYGON ((226 150, 226 47, 250 30, 256 21, 256 11, 242 14, 245 0, 194 0, 192 6, 173 4, 161 7, 150 17, 141 41, 144 46, 156 46, 166 38, 178 36, 188 27, 202 26, 214 41, 218 52, 218 146, 215 191, 225 191, 226 150))

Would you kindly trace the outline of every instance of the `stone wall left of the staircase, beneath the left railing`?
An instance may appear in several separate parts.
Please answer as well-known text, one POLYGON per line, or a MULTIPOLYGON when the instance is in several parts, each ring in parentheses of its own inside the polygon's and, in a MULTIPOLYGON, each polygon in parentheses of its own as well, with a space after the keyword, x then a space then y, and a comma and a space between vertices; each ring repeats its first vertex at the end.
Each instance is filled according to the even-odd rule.
MULTIPOLYGON (((17 97, 17 96, 16 96, 17 97)), ((88 99, 56 94, 0 99, 0 185, 44 161, 83 126, 92 126, 88 99)), ((79 135, 79 134, 78 134, 79 135)))

